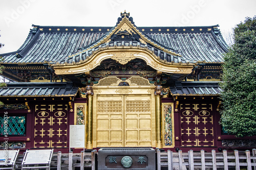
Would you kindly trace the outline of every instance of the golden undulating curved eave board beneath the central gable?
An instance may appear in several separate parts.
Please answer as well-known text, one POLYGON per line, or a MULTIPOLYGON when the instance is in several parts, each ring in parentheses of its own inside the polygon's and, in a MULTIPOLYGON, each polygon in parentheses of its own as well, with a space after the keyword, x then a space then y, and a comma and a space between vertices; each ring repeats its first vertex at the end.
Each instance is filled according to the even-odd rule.
POLYGON ((53 65, 53 68, 55 69, 55 73, 58 75, 81 74, 96 68, 103 60, 106 59, 113 59, 120 64, 126 64, 135 58, 142 59, 147 63, 147 65, 150 65, 154 69, 167 73, 189 74, 194 65, 189 63, 182 64, 181 62, 176 64, 166 63, 164 61, 160 61, 160 59, 154 56, 154 54, 144 49, 125 50, 122 48, 110 48, 96 52, 86 60, 86 62, 65 66, 55 64, 53 65))

